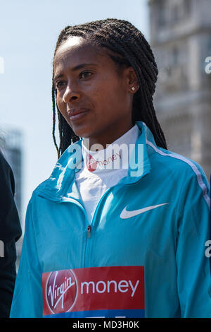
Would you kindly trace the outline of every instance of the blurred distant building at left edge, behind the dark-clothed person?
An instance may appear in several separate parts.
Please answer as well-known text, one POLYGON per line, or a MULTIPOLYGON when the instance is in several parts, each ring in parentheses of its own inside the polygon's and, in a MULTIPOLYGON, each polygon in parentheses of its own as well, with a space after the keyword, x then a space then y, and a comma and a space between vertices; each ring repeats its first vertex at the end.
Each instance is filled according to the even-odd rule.
MULTIPOLYGON (((22 223, 22 198, 23 198, 23 185, 22 185, 22 169, 23 169, 23 148, 22 148, 22 134, 16 129, 4 129, 4 133, 1 134, 1 149, 4 158, 7 160, 8 164, 13 170, 13 175, 15 179, 15 204, 18 209, 18 215, 20 218, 20 223, 22 223)), ((17 267, 20 261, 20 251, 22 247, 21 238, 17 244, 17 267)))

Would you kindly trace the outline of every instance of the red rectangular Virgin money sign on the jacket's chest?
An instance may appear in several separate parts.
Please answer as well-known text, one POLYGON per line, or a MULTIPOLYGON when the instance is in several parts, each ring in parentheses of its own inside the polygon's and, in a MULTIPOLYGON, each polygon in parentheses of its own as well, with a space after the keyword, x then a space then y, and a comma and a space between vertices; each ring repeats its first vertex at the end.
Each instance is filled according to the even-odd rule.
POLYGON ((45 317, 144 317, 143 266, 44 273, 45 317))

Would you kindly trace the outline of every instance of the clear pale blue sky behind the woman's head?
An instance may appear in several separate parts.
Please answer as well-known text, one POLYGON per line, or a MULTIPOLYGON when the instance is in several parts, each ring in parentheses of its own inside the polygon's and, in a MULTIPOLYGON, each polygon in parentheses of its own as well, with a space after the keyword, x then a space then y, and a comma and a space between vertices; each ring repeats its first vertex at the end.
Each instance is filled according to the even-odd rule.
POLYGON ((0 129, 23 132, 23 218, 36 186, 56 164, 52 139, 53 52, 66 25, 129 20, 149 41, 147 0, 0 0, 0 129))

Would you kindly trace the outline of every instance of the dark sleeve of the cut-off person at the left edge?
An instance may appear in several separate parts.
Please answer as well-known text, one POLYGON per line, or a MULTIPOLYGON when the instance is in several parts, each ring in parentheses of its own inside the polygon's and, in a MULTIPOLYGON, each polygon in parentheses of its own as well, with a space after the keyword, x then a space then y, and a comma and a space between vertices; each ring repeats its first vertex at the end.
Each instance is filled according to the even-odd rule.
POLYGON ((15 182, 8 162, 0 153, 0 317, 9 316, 15 285, 15 242, 21 236, 20 220, 14 201, 15 182))

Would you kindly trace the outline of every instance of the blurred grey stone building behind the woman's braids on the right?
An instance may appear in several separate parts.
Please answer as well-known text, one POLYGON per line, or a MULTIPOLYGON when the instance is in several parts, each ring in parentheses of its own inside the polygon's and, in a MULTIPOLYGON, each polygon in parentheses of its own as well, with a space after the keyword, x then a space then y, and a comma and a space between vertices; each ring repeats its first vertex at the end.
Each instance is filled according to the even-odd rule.
POLYGON ((211 173, 210 0, 148 0, 150 44, 158 64, 155 111, 168 149, 211 173))

